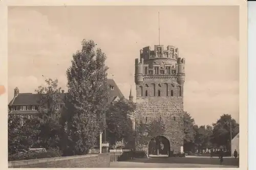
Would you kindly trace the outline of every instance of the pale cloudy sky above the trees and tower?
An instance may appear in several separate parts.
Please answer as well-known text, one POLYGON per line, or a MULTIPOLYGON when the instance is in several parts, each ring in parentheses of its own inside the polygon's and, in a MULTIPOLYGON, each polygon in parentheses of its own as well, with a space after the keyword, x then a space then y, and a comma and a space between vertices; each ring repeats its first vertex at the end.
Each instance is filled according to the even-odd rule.
POLYGON ((140 49, 179 48, 186 59, 184 110, 198 125, 222 114, 239 122, 238 6, 37 6, 8 8, 8 101, 13 89, 34 92, 45 78, 67 91, 66 70, 82 39, 106 54, 109 78, 126 98, 140 49), (111 76, 111 75, 114 76, 111 76), (42 77, 44 75, 44 77, 42 77))

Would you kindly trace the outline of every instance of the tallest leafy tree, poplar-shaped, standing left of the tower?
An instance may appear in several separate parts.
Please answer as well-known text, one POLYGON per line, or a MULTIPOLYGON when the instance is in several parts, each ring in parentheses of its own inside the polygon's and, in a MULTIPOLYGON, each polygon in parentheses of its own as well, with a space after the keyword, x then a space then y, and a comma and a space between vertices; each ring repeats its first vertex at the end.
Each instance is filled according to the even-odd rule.
POLYGON ((102 119, 108 92, 106 55, 93 40, 83 40, 67 69, 69 102, 72 114, 71 138, 75 154, 86 154, 103 130, 102 119))

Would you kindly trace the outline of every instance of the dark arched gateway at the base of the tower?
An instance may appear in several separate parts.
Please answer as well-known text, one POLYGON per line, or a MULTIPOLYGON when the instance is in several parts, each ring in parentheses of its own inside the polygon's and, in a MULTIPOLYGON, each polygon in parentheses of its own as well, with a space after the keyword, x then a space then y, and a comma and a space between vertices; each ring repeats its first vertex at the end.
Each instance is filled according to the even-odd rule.
POLYGON ((152 138, 147 145, 148 157, 153 156, 169 156, 170 142, 164 136, 156 136, 152 138))

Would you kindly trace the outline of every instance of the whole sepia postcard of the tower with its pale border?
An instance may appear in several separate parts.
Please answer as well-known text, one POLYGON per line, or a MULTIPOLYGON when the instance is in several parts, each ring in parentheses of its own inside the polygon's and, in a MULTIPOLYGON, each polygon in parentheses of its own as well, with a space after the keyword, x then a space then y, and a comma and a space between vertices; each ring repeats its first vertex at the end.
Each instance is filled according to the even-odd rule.
POLYGON ((8 6, 8 167, 246 167, 244 8, 8 6))

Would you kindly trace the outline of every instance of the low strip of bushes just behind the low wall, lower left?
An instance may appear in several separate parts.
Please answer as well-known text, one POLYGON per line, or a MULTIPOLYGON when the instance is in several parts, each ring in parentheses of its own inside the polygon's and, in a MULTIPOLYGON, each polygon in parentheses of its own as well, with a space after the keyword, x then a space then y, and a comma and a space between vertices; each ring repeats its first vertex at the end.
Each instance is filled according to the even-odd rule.
POLYGON ((16 153, 8 155, 8 161, 29 160, 29 159, 42 159, 61 157, 62 153, 58 150, 48 150, 46 152, 28 151, 26 153, 16 153))

